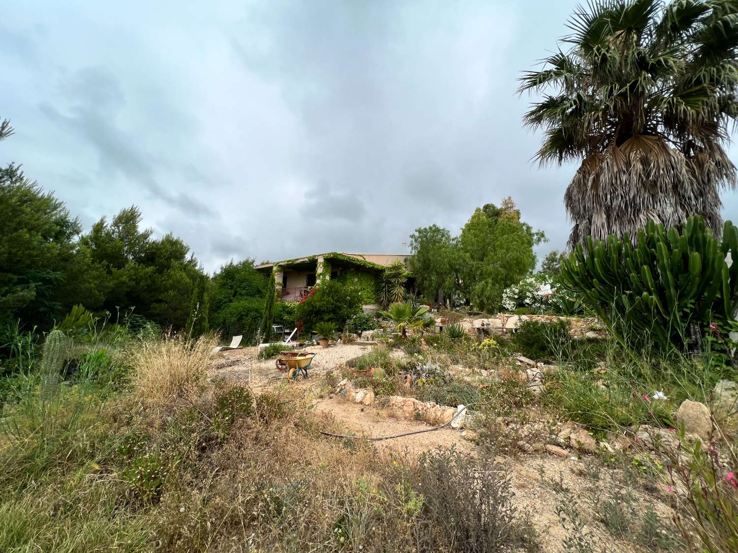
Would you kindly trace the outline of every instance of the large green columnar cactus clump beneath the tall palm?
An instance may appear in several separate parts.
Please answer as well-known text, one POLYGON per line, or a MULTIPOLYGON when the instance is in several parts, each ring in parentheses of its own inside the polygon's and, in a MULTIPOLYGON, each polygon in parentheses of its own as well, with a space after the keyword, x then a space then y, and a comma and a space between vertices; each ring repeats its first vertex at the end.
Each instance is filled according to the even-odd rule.
POLYGON ((738 310, 738 229, 725 223, 716 240, 700 217, 667 232, 653 221, 635 241, 587 238, 562 264, 565 288, 581 294, 620 338, 649 336, 661 347, 697 349, 710 335, 725 349, 738 310), (731 254, 731 266, 725 261, 731 254), (713 325, 711 328, 710 325, 713 325))

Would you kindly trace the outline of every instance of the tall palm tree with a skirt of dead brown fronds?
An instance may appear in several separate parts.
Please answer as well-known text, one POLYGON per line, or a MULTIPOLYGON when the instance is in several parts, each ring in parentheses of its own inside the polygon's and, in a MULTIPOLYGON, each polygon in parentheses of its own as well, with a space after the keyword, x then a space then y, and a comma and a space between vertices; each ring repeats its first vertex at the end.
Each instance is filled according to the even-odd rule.
POLYGON ((738 114, 738 2, 593 0, 568 27, 567 49, 519 91, 551 92, 524 117, 545 131, 537 159, 581 160, 564 198, 570 246, 689 215, 720 234, 720 191, 737 184, 724 146, 738 114))

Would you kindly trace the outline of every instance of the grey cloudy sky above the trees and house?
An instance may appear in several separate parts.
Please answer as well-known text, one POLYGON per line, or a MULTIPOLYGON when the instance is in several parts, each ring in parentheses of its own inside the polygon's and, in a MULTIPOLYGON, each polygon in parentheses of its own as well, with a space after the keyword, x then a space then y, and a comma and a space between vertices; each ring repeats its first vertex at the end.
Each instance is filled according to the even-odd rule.
MULTIPOLYGON (((574 169, 531 162, 516 80, 577 3, 7 2, 0 164, 24 164, 86 229, 136 204, 208 271, 403 253, 416 227, 458 232, 507 195, 544 254, 565 246, 574 169)), ((723 201, 738 218, 738 195, 723 201)))

